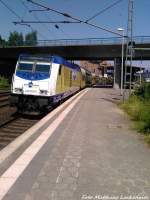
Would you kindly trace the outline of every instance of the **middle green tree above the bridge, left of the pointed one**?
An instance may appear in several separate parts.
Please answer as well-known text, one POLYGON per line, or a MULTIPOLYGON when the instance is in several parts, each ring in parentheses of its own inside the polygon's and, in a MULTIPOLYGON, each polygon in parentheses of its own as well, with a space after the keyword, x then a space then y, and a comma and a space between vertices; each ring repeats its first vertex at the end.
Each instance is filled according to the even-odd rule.
POLYGON ((22 33, 18 33, 17 31, 10 32, 8 38, 9 46, 22 46, 24 45, 24 39, 22 33))

